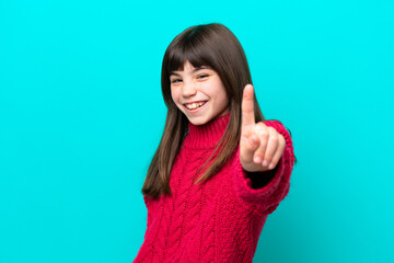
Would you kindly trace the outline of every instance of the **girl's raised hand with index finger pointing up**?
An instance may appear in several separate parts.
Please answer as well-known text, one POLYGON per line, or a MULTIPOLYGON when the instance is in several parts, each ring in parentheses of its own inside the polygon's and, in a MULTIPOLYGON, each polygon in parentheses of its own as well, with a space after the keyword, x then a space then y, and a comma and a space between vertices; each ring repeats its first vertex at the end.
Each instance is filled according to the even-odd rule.
POLYGON ((264 172, 274 169, 286 147, 285 137, 263 122, 255 123, 254 90, 247 84, 242 98, 242 126, 240 160, 248 172, 264 172))

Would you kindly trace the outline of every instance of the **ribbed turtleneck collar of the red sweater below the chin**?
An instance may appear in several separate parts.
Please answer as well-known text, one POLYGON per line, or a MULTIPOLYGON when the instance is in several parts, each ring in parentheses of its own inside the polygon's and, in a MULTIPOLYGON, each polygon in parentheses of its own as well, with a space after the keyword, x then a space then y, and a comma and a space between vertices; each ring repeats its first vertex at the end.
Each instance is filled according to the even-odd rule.
POLYGON ((192 149, 215 148, 223 136, 229 119, 230 113, 227 113, 204 125, 188 123, 188 134, 185 137, 184 147, 192 149))

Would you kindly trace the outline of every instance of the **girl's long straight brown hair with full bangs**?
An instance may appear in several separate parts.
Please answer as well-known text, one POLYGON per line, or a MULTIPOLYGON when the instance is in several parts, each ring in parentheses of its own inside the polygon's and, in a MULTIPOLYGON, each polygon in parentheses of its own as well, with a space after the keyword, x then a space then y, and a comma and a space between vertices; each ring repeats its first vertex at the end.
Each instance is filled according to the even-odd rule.
MULTIPOLYGON (((241 137, 241 102, 243 89, 252 83, 245 53, 235 35, 218 23, 196 25, 177 35, 165 50, 161 85, 165 105, 166 121, 160 145, 149 167, 142 194, 155 198, 171 193, 170 173, 176 153, 187 133, 188 119, 177 108, 171 96, 170 72, 183 70, 189 61, 194 67, 209 66, 218 72, 229 98, 230 119, 222 138, 202 168, 202 175, 195 183, 212 176, 230 159, 241 137), (213 158, 213 159, 212 159, 213 158), (211 164, 206 168, 207 163, 211 164)), ((254 96, 255 122, 265 118, 254 96)))

